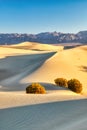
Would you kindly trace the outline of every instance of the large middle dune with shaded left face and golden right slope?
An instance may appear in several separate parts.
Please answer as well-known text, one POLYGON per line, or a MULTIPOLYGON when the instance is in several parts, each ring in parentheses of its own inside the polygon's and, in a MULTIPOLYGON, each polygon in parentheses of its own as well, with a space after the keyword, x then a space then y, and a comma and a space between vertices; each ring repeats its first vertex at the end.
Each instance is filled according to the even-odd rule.
MULTIPOLYGON (((28 43, 17 46, 26 44, 28 43)), ((3 47, 0 47, 0 53, 4 56, 0 59, 0 91, 24 91, 31 82, 54 83, 55 78, 64 77, 79 79, 86 93, 86 48, 87 46, 82 46, 55 53, 7 46, 2 51, 3 47)))

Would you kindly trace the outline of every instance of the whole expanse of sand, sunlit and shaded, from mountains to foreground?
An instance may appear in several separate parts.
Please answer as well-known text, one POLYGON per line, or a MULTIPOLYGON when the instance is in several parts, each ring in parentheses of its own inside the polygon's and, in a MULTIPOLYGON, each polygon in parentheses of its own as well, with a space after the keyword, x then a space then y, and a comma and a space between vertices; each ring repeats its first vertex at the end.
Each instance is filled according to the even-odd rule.
POLYGON ((87 130, 87 46, 27 44, 0 46, 0 130, 87 130), (55 86, 57 77, 79 79, 83 93, 55 86), (47 93, 26 94, 31 82, 47 93))

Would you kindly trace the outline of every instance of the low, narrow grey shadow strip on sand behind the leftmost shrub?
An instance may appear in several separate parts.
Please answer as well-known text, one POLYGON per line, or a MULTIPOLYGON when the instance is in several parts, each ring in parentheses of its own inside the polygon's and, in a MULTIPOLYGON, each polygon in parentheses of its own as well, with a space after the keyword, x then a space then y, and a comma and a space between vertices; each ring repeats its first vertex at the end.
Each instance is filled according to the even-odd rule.
POLYGON ((47 82, 29 82, 29 83, 20 83, 16 82, 14 85, 12 84, 6 84, 3 87, 1 87, 3 84, 0 85, 0 91, 26 91, 26 87, 31 85, 32 83, 39 83, 41 84, 47 91, 50 90, 69 90, 68 88, 59 87, 53 83, 47 83, 47 82))

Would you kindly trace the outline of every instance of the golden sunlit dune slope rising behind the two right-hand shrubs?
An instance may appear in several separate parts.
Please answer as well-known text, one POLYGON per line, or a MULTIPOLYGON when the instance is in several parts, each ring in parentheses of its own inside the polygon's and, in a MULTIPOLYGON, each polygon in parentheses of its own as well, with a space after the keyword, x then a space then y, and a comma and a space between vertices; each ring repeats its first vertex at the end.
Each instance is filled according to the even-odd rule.
POLYGON ((57 77, 77 78, 87 93, 87 46, 57 52, 23 82, 54 82, 57 77), (84 48, 84 49, 83 49, 84 48), (41 76, 43 74, 43 76, 41 76), (29 80, 28 80, 29 79, 29 80))

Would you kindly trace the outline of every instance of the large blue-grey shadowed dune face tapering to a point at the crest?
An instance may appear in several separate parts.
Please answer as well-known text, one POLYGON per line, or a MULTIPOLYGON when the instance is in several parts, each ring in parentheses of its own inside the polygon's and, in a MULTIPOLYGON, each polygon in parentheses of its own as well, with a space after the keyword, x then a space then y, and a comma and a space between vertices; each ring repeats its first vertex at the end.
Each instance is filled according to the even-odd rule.
POLYGON ((36 71, 56 52, 10 56, 0 59, 0 91, 22 91, 28 83, 20 81, 36 71))

